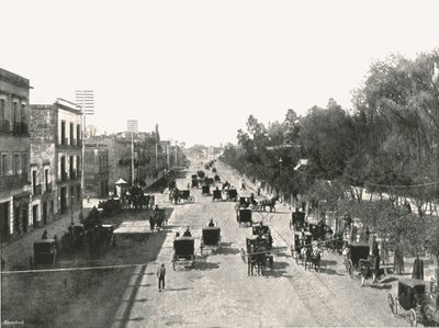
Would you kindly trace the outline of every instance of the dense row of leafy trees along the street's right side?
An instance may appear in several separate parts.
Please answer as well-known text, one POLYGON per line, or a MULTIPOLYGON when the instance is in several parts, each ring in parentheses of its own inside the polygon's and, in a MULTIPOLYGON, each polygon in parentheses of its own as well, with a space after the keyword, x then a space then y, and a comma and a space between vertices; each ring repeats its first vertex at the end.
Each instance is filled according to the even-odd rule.
POLYGON ((330 99, 304 116, 289 110, 283 122, 268 126, 250 115, 222 159, 286 200, 325 201, 320 210, 349 212, 395 247, 438 256, 435 63, 439 49, 376 61, 353 92, 351 110, 330 99), (307 165, 294 169, 305 158, 307 165))

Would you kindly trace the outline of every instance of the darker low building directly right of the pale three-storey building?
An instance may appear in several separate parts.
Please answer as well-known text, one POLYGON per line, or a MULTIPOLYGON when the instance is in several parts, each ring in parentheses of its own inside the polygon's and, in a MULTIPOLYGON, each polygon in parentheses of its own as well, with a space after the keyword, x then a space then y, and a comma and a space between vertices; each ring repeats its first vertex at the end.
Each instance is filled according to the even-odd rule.
POLYGON ((91 197, 109 195, 109 146, 86 144, 83 160, 85 192, 91 197))

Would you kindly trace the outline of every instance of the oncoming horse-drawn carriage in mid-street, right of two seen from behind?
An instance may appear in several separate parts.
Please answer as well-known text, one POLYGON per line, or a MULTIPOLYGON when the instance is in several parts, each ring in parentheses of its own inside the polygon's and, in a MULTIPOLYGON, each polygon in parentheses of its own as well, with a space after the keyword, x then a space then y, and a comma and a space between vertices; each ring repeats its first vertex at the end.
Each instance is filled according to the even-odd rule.
POLYGON ((263 275, 266 268, 273 268, 273 256, 271 255, 271 246, 267 238, 247 237, 247 251, 240 250, 243 260, 248 264, 248 275, 254 275, 255 269, 258 275, 263 275))

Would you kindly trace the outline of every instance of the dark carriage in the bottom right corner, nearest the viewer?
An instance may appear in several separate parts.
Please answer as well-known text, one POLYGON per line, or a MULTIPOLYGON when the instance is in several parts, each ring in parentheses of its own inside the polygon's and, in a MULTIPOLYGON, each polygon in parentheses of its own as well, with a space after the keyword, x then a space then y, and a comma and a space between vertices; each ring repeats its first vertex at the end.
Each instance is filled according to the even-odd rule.
POLYGON ((393 315, 406 318, 410 326, 423 323, 437 327, 439 324, 437 297, 426 292, 426 282, 423 280, 399 280, 397 295, 389 293, 387 302, 393 315))

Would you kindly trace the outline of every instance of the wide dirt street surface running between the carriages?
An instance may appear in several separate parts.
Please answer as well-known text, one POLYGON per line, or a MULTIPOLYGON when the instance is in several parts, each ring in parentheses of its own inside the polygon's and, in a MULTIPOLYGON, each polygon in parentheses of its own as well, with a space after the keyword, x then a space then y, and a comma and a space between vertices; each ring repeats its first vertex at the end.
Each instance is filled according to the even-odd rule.
MULTIPOLYGON (((218 174, 239 185, 240 179, 218 163, 218 174)), ((194 171, 200 167, 192 167, 194 171)), ((206 171, 206 170, 205 170, 206 171)), ((179 179, 185 189, 190 181, 179 179)), ((211 177, 212 172, 207 172, 211 177)), ((251 191, 248 191, 249 194, 251 191)), ((128 240, 117 251, 93 264, 130 264, 94 271, 23 273, 2 275, 2 319, 25 320, 34 327, 293 327, 293 326, 406 326, 394 318, 386 295, 395 293, 394 279, 360 287, 347 275, 341 257, 325 252, 319 273, 305 271, 291 257, 291 211, 282 204, 277 213, 252 214, 272 229, 273 247, 288 247, 274 255, 273 269, 263 276, 247 274, 240 249, 251 228, 239 227, 234 202, 213 202, 191 190, 194 203, 171 205, 164 196, 168 226, 144 240, 128 240), (172 270, 176 231, 187 227, 195 237, 200 255, 201 229, 213 218, 221 227, 222 251, 200 257, 191 270, 172 270), (165 263, 166 290, 159 292, 156 272, 165 263), (5 296, 4 296, 5 295, 5 296), (20 313, 21 317, 10 317, 20 313), (9 317, 8 317, 9 316, 9 317)), ((117 219, 145 219, 148 214, 117 219)), ((88 263, 90 264, 90 263, 88 263)))

